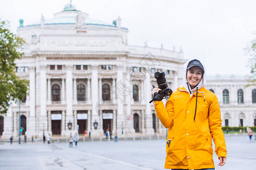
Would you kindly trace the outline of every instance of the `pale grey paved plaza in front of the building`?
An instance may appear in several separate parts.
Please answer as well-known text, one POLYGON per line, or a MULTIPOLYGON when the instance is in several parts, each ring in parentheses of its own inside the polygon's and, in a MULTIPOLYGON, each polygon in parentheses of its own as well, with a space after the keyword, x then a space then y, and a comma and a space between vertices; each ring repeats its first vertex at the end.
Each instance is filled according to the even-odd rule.
MULTIPOLYGON (((255 170, 256 141, 245 136, 226 136, 228 159, 216 169, 255 170)), ((164 169, 164 139, 135 141, 68 142, 43 144, 0 143, 0 169, 164 169)))

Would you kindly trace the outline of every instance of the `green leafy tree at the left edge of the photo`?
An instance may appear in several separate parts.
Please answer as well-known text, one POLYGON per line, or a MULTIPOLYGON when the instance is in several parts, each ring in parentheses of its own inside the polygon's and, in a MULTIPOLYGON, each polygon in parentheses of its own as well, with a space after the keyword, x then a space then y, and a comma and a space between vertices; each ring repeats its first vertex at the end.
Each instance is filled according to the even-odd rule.
POLYGON ((6 113, 12 101, 22 100, 27 94, 28 80, 15 73, 15 60, 23 55, 24 40, 9 30, 5 20, 0 19, 0 114, 6 113))

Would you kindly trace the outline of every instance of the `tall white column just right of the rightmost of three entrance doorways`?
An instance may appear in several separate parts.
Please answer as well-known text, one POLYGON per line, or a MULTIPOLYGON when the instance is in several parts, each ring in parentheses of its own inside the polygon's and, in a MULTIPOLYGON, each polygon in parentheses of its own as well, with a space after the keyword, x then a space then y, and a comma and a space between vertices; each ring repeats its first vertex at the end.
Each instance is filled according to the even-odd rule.
MULTIPOLYGON (((118 85, 121 86, 120 88, 124 88, 123 84, 123 67, 122 66, 117 66, 117 83, 120 84, 118 85)), ((121 135, 122 134, 122 124, 125 125, 125 118, 123 115, 123 95, 119 94, 117 92, 117 134, 121 135)), ((125 128, 123 128, 123 135, 125 134, 125 128)))

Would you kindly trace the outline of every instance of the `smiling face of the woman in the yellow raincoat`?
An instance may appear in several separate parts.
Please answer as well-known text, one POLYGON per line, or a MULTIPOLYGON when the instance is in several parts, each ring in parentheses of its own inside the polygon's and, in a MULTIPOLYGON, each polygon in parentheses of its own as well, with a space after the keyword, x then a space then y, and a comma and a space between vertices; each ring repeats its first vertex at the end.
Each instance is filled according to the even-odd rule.
POLYGON ((203 70, 200 67, 194 66, 187 71, 187 80, 191 89, 195 88, 200 83, 203 77, 203 70))

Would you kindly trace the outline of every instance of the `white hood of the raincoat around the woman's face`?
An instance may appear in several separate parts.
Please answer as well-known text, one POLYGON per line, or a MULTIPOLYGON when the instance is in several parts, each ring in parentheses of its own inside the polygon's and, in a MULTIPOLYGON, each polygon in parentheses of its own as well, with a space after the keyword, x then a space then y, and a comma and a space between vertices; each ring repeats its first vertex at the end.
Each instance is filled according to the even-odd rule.
POLYGON ((187 67, 188 67, 188 64, 189 62, 193 61, 193 60, 197 60, 199 61, 198 59, 191 59, 189 60, 186 65, 185 65, 185 71, 184 71, 184 76, 183 76, 183 86, 184 88, 188 91, 188 92, 191 92, 190 95, 193 94, 193 92, 196 91, 196 88, 197 90, 199 90, 200 88, 204 87, 205 84, 206 84, 206 70, 205 70, 205 66, 203 65, 203 63, 201 61, 199 61, 201 63, 201 65, 204 67, 204 74, 203 74, 203 78, 201 79, 200 83, 197 84, 197 86, 193 89, 191 89, 191 87, 189 86, 188 84, 188 80, 187 80, 187 67))

